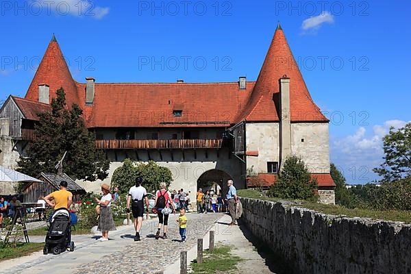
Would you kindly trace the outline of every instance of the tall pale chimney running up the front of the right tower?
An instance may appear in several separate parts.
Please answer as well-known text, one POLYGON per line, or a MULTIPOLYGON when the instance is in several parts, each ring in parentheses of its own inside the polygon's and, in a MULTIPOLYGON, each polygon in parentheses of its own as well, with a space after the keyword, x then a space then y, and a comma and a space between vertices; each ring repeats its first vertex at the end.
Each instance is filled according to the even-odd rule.
POLYGON ((290 78, 284 75, 279 79, 279 164, 291 154, 291 117, 290 117, 290 78))

